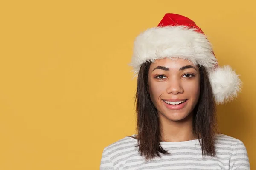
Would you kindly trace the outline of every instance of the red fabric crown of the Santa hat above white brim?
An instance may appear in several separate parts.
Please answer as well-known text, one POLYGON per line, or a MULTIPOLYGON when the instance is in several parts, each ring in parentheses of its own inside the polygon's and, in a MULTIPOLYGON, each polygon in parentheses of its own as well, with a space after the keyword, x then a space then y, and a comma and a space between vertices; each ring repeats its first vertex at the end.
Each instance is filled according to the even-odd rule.
POLYGON ((158 27, 162 27, 162 26, 189 26, 191 28, 196 28, 197 32, 200 32, 202 34, 204 34, 204 32, 201 30, 201 28, 199 28, 194 21, 190 20, 187 17, 184 17, 182 15, 179 14, 165 14, 163 19, 160 21, 160 23, 158 24, 158 27))

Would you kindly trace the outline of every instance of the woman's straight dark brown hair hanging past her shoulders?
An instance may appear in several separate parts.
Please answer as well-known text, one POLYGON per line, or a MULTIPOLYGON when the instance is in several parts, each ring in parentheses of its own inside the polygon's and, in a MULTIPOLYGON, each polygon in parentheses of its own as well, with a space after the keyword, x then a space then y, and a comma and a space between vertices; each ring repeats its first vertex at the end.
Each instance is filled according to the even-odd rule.
MULTIPOLYGON (((137 113, 137 133, 139 153, 145 159, 160 157, 160 153, 169 154, 160 145, 160 121, 157 109, 154 107, 148 87, 148 71, 151 61, 141 65, 137 78, 137 91, 135 95, 137 113)), ((193 114, 193 133, 198 136, 202 155, 215 156, 215 133, 217 133, 216 105, 204 66, 199 66, 200 96, 193 114)), ((133 136, 129 136, 135 138, 133 136)))

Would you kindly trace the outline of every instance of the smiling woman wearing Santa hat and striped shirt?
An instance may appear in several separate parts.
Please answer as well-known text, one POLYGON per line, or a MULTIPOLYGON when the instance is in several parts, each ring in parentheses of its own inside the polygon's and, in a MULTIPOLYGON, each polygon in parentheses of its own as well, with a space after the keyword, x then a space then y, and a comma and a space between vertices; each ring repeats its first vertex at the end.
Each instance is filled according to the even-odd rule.
POLYGON ((105 147, 101 170, 250 170, 243 142, 216 126, 215 103, 235 98, 241 80, 192 20, 166 14, 136 38, 130 65, 138 134, 105 147))

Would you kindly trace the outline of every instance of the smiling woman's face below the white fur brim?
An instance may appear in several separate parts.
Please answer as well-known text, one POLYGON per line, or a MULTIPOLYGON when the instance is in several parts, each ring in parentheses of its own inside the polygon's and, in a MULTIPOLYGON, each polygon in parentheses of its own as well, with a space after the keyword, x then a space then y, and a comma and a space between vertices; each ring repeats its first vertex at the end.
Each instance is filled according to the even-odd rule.
POLYGON ((149 68, 148 85, 159 116, 180 121, 192 113, 198 102, 199 69, 185 59, 157 59, 149 68))

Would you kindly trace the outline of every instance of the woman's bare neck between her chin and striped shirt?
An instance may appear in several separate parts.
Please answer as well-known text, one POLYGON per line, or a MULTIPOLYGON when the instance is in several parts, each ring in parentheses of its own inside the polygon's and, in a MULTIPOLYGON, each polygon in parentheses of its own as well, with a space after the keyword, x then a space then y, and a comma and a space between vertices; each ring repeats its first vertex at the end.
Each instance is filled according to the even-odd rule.
POLYGON ((193 134, 193 114, 185 119, 172 121, 159 114, 161 140, 165 142, 181 142, 198 139, 193 134))

